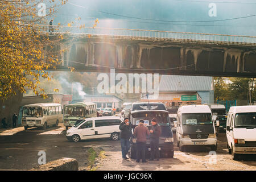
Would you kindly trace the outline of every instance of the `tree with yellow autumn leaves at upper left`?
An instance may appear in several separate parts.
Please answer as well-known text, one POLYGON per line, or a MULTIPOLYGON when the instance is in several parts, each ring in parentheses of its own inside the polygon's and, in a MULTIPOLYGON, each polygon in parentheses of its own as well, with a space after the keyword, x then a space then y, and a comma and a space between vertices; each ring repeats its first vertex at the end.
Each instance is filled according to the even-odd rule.
POLYGON ((17 92, 26 93, 26 89, 45 96, 44 89, 38 86, 39 78, 51 79, 46 70, 60 64, 53 56, 56 50, 52 45, 62 38, 49 38, 47 19, 66 1, 50 1, 52 7, 46 9, 48 14, 39 16, 37 7, 42 2, 0 1, 0 100, 17 92), (47 30, 42 28, 46 27, 43 25, 47 25, 47 30))

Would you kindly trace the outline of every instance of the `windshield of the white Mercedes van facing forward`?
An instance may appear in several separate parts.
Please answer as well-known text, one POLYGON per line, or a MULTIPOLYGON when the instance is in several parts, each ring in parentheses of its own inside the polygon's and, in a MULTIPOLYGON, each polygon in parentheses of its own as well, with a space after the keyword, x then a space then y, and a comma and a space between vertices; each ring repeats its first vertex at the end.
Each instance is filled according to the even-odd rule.
POLYGON ((212 125, 210 113, 184 113, 182 114, 182 125, 212 125))

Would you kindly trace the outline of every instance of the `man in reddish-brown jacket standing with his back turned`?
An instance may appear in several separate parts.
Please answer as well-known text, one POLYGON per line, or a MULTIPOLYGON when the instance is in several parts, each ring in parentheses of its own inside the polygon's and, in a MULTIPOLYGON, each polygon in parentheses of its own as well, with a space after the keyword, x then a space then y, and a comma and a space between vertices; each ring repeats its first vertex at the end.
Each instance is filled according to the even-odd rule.
POLYGON ((144 121, 141 119, 139 120, 139 126, 135 127, 134 129, 134 137, 136 137, 136 146, 137 146, 137 160, 136 162, 142 159, 143 163, 146 163, 145 158, 145 148, 146 148, 146 137, 149 135, 149 130, 146 126, 144 126, 144 121))

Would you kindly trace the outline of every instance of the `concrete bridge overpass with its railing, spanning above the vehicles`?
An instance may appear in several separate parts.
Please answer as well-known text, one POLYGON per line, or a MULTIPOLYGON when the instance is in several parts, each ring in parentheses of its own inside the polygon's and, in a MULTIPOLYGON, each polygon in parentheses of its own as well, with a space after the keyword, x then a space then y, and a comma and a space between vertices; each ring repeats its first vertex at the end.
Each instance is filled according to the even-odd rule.
POLYGON ((256 37, 121 28, 58 27, 55 70, 256 77, 256 37), (72 41, 70 41, 72 40, 72 41))

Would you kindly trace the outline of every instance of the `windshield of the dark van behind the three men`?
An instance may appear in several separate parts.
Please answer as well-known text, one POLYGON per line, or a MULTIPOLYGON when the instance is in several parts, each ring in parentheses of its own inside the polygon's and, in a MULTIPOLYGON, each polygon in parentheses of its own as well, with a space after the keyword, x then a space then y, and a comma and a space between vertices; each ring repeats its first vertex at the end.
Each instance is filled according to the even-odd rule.
POLYGON ((158 113, 158 112, 143 112, 143 113, 133 113, 133 125, 139 125, 139 120, 144 120, 144 125, 151 125, 151 119, 156 118, 158 125, 160 126, 170 126, 170 119, 168 113, 158 113))

